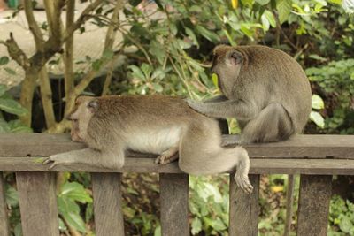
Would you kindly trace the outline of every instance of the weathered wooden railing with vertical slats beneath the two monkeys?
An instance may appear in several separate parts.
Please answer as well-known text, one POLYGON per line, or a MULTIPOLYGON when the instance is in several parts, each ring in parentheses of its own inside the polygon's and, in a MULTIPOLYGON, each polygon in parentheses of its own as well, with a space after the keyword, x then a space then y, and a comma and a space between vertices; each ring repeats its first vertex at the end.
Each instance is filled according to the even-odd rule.
MULTIPOLYGON (((158 172, 162 234, 189 235, 189 176, 177 163, 157 165, 155 156, 127 153, 125 166, 114 172, 81 164, 58 165, 48 171, 48 166, 37 161, 39 156, 78 148, 83 145, 65 134, 0 135, 0 235, 9 235, 1 171, 16 172, 24 236, 59 235, 55 171, 92 172, 97 236, 124 235, 121 172, 158 172)), ((297 235, 327 235, 332 175, 354 175, 354 136, 298 135, 289 141, 245 148, 251 156, 254 192, 243 194, 231 178, 229 235, 257 235, 259 175, 273 173, 301 174, 297 235)))

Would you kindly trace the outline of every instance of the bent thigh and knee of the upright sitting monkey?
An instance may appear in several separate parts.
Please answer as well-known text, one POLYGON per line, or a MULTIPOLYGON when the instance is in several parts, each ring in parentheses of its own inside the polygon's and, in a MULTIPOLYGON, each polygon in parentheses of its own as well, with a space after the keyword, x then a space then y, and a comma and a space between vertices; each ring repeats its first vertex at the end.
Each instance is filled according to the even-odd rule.
POLYGON ((244 126, 240 142, 283 141, 294 132, 287 110, 280 103, 271 103, 244 126))

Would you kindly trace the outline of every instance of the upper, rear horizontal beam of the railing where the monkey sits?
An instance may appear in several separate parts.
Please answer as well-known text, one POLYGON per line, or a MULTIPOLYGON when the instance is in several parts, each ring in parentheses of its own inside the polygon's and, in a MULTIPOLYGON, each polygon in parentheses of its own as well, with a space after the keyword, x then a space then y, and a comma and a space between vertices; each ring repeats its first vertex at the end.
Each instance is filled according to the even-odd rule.
MULTIPOLYGON (((70 141, 68 134, 0 134, 0 156, 49 156, 83 147, 81 143, 70 141)), ((296 135, 289 141, 247 145, 245 148, 252 158, 354 159, 354 135, 296 135)), ((146 155, 128 152, 127 156, 146 155)))

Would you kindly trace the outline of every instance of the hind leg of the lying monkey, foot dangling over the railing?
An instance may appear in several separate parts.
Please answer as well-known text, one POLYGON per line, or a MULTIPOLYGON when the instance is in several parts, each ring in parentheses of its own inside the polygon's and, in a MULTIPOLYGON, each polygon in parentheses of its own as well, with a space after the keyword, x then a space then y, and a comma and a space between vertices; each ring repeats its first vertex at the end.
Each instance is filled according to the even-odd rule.
POLYGON ((179 166, 190 174, 216 174, 230 171, 236 167, 235 181, 246 193, 251 193, 248 173, 250 158, 242 147, 221 148, 217 123, 194 123, 181 138, 179 166))

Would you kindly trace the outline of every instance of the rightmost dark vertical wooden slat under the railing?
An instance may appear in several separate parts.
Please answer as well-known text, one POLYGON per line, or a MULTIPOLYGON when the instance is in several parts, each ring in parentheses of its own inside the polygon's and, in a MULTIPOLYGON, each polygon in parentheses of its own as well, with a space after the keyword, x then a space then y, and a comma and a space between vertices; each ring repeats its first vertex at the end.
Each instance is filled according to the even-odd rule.
POLYGON ((332 176, 301 175, 297 216, 298 236, 326 236, 332 176))

